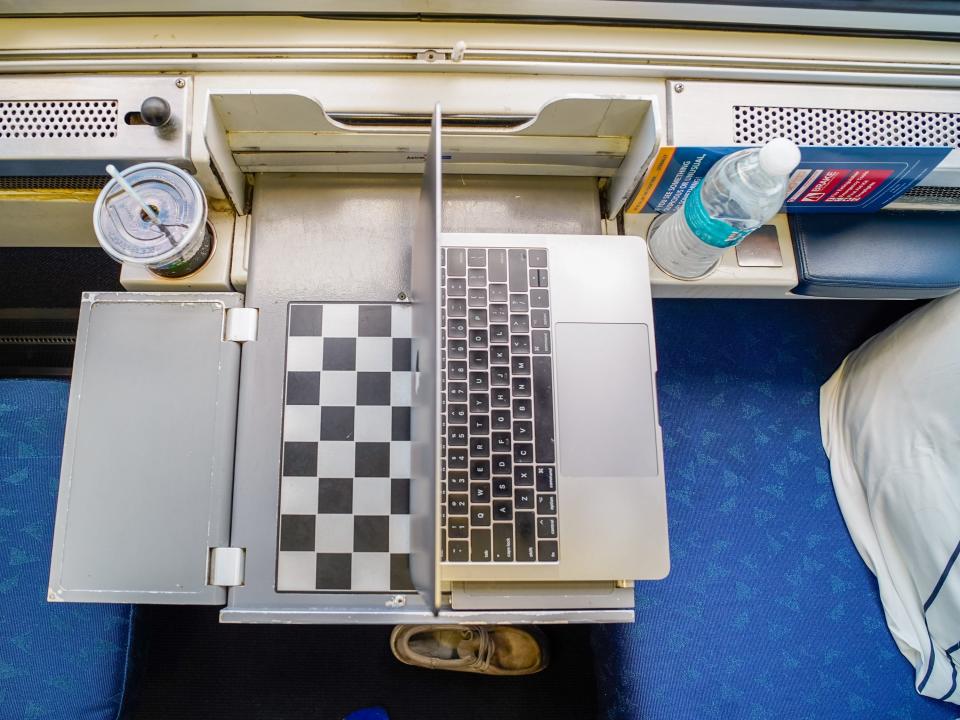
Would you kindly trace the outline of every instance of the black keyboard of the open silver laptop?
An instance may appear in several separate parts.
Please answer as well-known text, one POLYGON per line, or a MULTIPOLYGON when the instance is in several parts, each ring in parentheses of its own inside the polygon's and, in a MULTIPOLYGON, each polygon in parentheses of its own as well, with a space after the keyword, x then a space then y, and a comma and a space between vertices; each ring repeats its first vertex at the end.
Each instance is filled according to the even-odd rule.
POLYGON ((441 252, 441 559, 557 562, 547 251, 441 252))

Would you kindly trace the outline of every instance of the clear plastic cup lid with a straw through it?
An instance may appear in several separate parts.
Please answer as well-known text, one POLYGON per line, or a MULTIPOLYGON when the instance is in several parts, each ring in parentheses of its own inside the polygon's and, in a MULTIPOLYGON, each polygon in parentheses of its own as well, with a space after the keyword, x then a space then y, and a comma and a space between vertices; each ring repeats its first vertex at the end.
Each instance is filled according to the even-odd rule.
POLYGON ((153 208, 158 227, 116 180, 100 192, 93 227, 100 245, 119 262, 156 265, 190 254, 203 238, 207 199, 196 180, 166 163, 143 163, 121 173, 153 208))

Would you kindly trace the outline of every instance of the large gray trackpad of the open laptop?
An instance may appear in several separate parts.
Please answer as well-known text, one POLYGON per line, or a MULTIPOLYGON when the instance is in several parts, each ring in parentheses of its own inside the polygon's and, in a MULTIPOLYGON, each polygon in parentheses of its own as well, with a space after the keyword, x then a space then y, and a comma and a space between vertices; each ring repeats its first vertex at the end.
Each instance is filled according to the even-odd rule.
POLYGON ((648 328, 641 323, 557 323, 560 474, 657 474, 648 328))

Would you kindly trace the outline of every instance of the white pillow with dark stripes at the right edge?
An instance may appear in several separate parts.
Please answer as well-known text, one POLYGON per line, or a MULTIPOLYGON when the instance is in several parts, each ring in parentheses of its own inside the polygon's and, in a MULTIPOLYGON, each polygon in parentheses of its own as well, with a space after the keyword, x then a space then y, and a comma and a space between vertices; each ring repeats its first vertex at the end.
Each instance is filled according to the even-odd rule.
POLYGON ((960 704, 960 293, 850 353, 820 390, 820 427, 917 691, 960 704))

